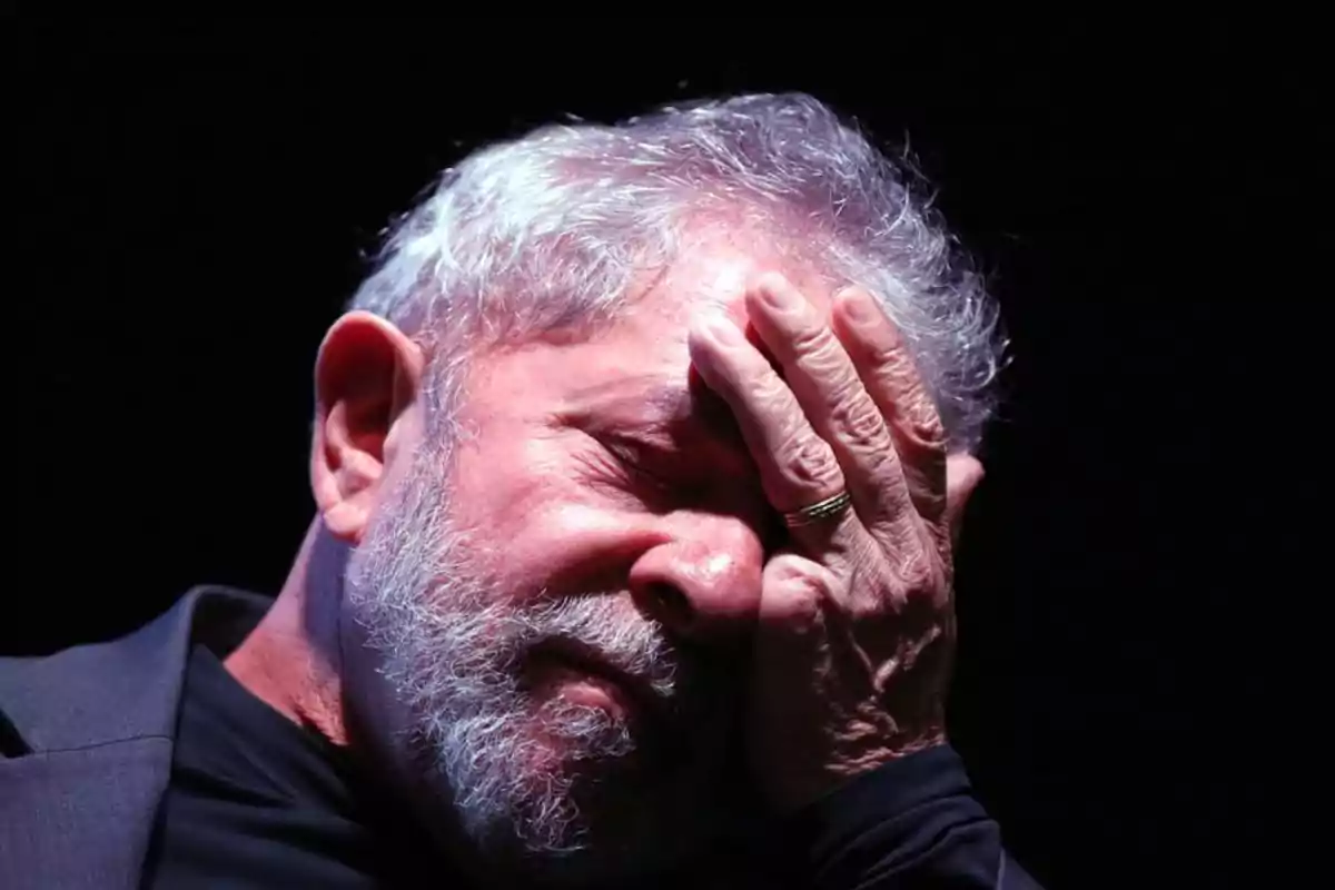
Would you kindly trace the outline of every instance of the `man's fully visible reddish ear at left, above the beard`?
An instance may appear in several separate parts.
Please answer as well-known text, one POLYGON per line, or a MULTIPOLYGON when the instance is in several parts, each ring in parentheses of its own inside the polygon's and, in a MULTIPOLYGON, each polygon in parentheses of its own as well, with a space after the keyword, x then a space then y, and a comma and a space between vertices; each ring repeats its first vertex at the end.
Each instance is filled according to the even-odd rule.
POLYGON ((320 343, 311 488, 324 526, 342 540, 355 544, 366 530, 422 364, 422 350, 370 312, 342 316, 320 343))

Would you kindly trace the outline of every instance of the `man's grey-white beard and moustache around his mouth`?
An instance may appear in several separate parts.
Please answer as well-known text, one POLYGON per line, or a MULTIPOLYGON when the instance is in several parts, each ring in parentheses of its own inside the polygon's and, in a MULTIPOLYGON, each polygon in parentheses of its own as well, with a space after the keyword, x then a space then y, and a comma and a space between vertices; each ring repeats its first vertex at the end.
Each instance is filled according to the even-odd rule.
POLYGON ((485 568, 503 554, 453 522, 449 455, 431 451, 346 576, 382 694, 402 715, 391 757, 489 867, 574 883, 689 861, 745 807, 722 745, 702 738, 702 727, 724 737, 728 673, 702 652, 688 659, 614 591, 503 584, 485 568), (534 682, 545 650, 571 647, 637 678, 657 719, 534 682))

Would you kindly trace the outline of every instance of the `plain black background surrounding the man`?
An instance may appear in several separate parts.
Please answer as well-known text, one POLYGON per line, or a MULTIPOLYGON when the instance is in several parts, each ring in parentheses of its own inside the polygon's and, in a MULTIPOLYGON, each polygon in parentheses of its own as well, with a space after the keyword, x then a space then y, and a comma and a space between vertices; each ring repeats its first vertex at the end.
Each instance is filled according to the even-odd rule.
POLYGON ((315 347, 470 147, 801 89, 909 140, 1013 339, 952 711, 1009 847, 1049 886, 1276 879, 1271 652, 1302 619, 1275 567, 1303 520, 1275 499, 1312 492, 1267 452, 1319 395, 1260 378, 1322 360, 1288 344, 1330 290, 1296 247, 1331 232, 1304 28, 674 15, 20 29, 4 651, 195 583, 278 590, 315 347))

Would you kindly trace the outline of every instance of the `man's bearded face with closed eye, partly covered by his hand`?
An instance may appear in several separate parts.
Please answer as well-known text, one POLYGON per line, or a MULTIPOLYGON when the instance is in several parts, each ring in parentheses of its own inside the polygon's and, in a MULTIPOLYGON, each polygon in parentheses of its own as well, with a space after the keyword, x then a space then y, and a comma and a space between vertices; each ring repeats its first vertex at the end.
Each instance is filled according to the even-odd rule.
POLYGON ((386 474, 347 579, 399 715, 386 745, 495 859, 614 874, 734 815, 772 519, 686 331, 740 318, 760 270, 697 252, 591 342, 486 356, 453 467, 423 443, 386 474))

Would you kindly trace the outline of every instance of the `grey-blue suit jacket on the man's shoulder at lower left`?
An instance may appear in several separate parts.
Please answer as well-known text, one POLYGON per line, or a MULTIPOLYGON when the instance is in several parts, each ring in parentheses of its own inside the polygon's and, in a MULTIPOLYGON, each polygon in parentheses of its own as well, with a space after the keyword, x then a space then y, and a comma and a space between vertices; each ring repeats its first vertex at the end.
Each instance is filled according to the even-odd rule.
POLYGON ((191 643, 234 643, 268 602, 198 587, 120 639, 0 659, 5 751, 19 754, 0 759, 5 887, 139 886, 191 643))

